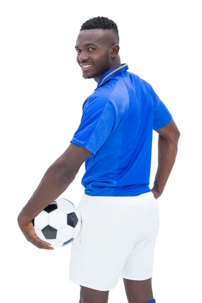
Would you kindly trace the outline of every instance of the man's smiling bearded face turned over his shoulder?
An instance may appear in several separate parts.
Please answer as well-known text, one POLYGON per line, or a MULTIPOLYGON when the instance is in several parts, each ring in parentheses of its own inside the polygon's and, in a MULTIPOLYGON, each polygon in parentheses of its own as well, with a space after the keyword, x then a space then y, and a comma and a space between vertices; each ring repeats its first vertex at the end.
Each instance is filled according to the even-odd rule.
POLYGON ((110 69, 112 60, 109 52, 113 45, 112 41, 112 38, 104 33, 103 29, 80 31, 75 48, 78 53, 77 62, 83 71, 83 78, 100 78, 110 69))

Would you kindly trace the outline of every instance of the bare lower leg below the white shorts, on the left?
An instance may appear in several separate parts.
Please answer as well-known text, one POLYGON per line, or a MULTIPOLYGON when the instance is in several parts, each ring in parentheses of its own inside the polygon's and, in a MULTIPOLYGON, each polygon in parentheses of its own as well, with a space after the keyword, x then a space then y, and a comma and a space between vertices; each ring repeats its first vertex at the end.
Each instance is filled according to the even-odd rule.
POLYGON ((101 291, 81 286, 79 303, 108 303, 109 290, 101 291))

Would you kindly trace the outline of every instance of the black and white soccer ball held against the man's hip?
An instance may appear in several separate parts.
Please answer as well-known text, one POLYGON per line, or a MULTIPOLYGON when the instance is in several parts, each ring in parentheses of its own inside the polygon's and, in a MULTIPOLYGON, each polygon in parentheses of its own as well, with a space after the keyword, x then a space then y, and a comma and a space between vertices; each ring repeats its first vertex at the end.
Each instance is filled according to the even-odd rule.
POLYGON ((51 243, 52 247, 71 243, 81 229, 79 211, 65 198, 53 201, 32 222, 37 237, 51 243))

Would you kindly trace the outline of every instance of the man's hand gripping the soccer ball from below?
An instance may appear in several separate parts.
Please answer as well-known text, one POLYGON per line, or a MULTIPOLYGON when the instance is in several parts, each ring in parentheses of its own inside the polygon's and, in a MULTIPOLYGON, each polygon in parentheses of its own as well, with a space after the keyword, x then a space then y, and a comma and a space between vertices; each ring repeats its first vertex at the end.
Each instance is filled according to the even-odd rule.
POLYGON ((51 250, 54 249, 53 247, 48 247, 51 246, 50 243, 44 242, 37 237, 32 221, 25 224, 22 223, 20 220, 18 220, 18 225, 22 230, 22 233, 24 234, 27 241, 31 242, 33 245, 35 245, 38 248, 51 249, 51 250))

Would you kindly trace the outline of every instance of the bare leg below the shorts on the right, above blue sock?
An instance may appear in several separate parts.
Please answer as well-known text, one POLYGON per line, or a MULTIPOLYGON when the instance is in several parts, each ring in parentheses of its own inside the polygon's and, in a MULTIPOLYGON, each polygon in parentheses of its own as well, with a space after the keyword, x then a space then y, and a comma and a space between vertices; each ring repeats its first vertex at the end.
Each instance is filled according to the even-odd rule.
POLYGON ((128 303, 146 303, 152 301, 151 278, 143 281, 123 279, 128 303))

